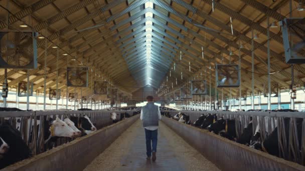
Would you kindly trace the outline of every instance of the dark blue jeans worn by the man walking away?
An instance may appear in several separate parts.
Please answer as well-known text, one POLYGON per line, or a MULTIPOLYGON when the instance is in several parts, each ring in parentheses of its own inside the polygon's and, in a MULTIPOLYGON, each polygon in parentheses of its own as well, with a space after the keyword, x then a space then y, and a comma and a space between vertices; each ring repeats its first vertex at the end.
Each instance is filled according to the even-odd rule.
POLYGON ((157 152, 158 129, 156 130, 145 129, 145 138, 146 138, 146 154, 148 157, 150 157, 151 152, 157 152), (153 141, 153 151, 151 151, 151 141, 153 141))

